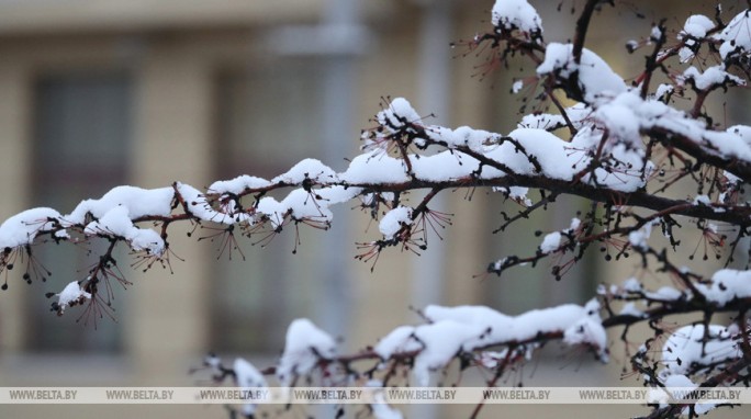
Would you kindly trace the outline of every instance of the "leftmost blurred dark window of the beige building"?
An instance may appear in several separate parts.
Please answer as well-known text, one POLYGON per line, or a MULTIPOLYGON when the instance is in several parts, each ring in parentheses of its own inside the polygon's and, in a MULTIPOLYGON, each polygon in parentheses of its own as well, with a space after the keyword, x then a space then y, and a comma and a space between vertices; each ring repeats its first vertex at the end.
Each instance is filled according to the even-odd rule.
MULTIPOLYGON (((70 212, 81 200, 101 196, 126 181, 132 135, 132 88, 126 75, 66 75, 40 78, 34 84, 33 205, 70 212)), ((59 292, 82 279, 92 263, 88 248, 40 246, 35 256, 52 268, 43 287, 59 292)), ((123 259, 124 261, 125 259, 123 259)), ((117 286, 113 288, 117 293, 117 286)), ((36 285, 38 286, 38 285, 36 285)), ((27 304, 26 347, 32 351, 116 351, 123 315, 116 321, 80 317, 70 310, 57 317, 49 301, 33 293, 27 304), (79 320, 80 319, 80 320, 79 320), (88 327, 80 322, 88 320, 88 327), (96 320, 97 332, 91 333, 96 320)))

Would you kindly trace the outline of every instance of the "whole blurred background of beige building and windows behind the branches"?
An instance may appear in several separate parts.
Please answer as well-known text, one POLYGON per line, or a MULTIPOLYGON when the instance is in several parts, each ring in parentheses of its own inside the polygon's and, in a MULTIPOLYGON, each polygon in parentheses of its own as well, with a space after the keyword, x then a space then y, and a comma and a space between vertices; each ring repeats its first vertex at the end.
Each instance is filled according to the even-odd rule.
MULTIPOLYGON (((548 42, 573 36, 571 9, 581 3, 535 4, 548 42)), ((648 36, 662 16, 681 27, 688 8, 714 13, 710 1, 635 3, 606 8, 587 44, 627 79, 638 75, 647 54, 625 54, 627 41, 648 36)), ((490 31, 492 5, 491 0, 2 0, 0 218, 32 206, 67 213, 120 184, 161 188, 181 181, 203 189, 243 173, 271 178, 305 157, 343 171, 346 158, 358 152, 360 129, 373 125, 369 118, 389 97, 405 97, 421 114, 435 114, 428 123, 507 133, 520 117, 519 99, 531 94, 508 94, 511 83, 534 75, 534 68, 520 72, 523 61, 512 60, 508 69, 486 72, 486 55, 462 58, 461 43, 449 47, 490 31)), ((738 99, 729 100, 736 102, 718 104, 728 125, 742 116, 732 105, 738 99)), ((298 317, 311 318, 341 338, 343 352, 354 352, 397 325, 417 321, 411 307, 484 304, 517 314, 583 304, 596 284, 636 272, 636 261, 613 273, 596 256, 561 282, 553 281, 547 263, 502 279, 483 275, 486 264, 503 256, 534 253, 539 239, 531 231, 568 227, 582 203, 559 200, 556 211, 495 235, 501 212, 515 213, 516 203, 478 190, 457 191, 439 204, 456 214, 441 231, 445 240, 433 237, 421 257, 389 249, 373 272, 354 259, 355 242, 378 233, 375 225, 368 229, 366 214, 350 211, 356 203, 338 208, 333 230, 301 231, 296 254, 293 228, 265 248, 242 238, 242 253, 234 251, 228 260, 220 242, 197 241, 212 230, 198 229, 188 238, 190 226, 176 226, 173 273, 160 267, 128 270, 130 259, 121 254, 133 285, 115 292, 113 318, 96 325, 89 319, 86 326, 81 310, 64 317, 49 313, 43 295, 80 279, 91 257, 86 249, 47 245, 40 256, 53 275, 26 285, 13 272, 0 295, 0 386, 206 385, 208 373, 188 374, 205 353, 272 365, 287 325, 298 317)), ((618 385, 626 360, 617 344, 607 367, 573 350, 552 350, 515 380, 618 385)), ((412 417, 467 416, 471 407, 452 409, 428 407, 412 417)), ((602 415, 592 406, 496 409, 539 417, 602 415)), ((487 407, 487 417, 492 411, 487 407)), ((3 417, 49 414, 226 417, 217 406, 0 406, 3 417)))

